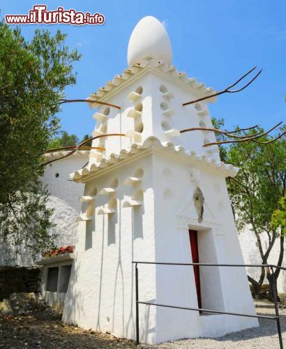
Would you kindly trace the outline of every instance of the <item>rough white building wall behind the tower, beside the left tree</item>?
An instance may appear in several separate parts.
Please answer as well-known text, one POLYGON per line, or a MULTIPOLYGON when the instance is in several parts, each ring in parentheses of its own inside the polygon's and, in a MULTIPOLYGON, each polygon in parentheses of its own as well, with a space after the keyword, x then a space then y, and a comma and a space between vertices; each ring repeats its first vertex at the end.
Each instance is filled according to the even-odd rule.
MULTIPOLYGON (((47 159, 54 158, 50 155, 47 159)), ((50 191, 50 200, 47 207, 54 208, 52 221, 57 224, 51 229, 51 233, 58 234, 55 244, 58 247, 74 245, 77 236, 77 216, 80 212, 78 198, 84 191, 83 184, 70 181, 70 173, 82 168, 89 161, 89 151, 77 151, 77 153, 62 160, 55 161, 45 168, 43 185, 50 191), (56 176, 56 174, 59 174, 56 176)), ((17 258, 11 256, 13 246, 0 245, 0 265, 33 265, 31 255, 27 248, 22 246, 17 258)))

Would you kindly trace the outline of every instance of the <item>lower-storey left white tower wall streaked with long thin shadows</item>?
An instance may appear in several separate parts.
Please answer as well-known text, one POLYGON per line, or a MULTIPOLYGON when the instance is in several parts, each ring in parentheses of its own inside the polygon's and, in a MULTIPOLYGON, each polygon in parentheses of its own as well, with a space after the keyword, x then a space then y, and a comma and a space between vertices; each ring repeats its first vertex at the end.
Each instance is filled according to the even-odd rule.
MULTIPOLYGON (((91 221, 79 224, 63 321, 135 338, 135 272, 131 262, 136 258, 154 260, 153 178, 149 168, 151 158, 144 158, 86 184, 84 195, 90 195, 96 188, 99 192, 112 186, 117 179, 119 184, 114 194, 116 212, 100 215, 101 209, 108 208, 112 196, 97 195, 91 221), (135 190, 133 186, 124 185, 123 179, 134 176, 138 168, 144 168, 144 181, 140 185, 144 191, 144 218, 141 222, 135 219, 132 208, 123 207, 135 190), (138 229, 140 224, 141 229, 138 229)), ((84 203, 82 213, 86 208, 84 203)), ((155 268, 151 267, 147 274, 141 273, 140 281, 144 283, 140 297, 155 299, 155 268)), ((147 323, 142 336, 144 340, 153 342, 156 309, 143 307, 141 316, 147 323)))

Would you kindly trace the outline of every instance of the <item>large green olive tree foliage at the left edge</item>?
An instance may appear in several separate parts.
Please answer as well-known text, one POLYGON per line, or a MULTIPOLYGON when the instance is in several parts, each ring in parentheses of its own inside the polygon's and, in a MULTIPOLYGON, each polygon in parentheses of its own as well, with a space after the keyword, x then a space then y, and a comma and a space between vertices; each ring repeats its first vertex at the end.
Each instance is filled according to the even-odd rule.
POLYGON ((20 29, 0 22, 0 244, 32 255, 54 248, 49 193, 40 183, 43 153, 59 128, 64 89, 75 84, 76 50, 65 34, 20 29))

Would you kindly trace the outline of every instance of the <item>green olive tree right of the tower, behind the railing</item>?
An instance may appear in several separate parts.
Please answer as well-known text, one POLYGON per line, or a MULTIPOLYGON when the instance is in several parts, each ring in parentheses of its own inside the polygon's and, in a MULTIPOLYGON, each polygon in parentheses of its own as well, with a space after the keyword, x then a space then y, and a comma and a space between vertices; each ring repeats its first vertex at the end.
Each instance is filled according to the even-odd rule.
MULTIPOLYGON (((213 119, 213 126, 223 127, 223 119, 213 119)), ((239 127, 237 127, 238 129, 239 127)), ((241 131, 239 135, 253 135, 257 131, 241 131)), ((280 128, 280 133, 285 126, 280 128)), ((216 135, 225 140, 225 135, 216 135)), ((273 140, 275 136, 266 135, 261 142, 273 140)), ((228 147, 220 145, 223 161, 240 168, 234 178, 227 179, 230 200, 234 209, 236 225, 239 229, 250 226, 257 239, 261 262, 268 263, 269 254, 278 242, 279 255, 276 265, 282 265, 285 241, 285 194, 286 194, 286 140, 280 138, 269 144, 259 142, 237 142, 228 147), (262 246, 261 235, 266 233, 267 246, 262 246)), ((276 269, 277 280, 280 269, 276 269)), ((264 278, 270 280, 270 270, 262 268, 258 280, 248 276, 255 294, 259 294, 264 278)))

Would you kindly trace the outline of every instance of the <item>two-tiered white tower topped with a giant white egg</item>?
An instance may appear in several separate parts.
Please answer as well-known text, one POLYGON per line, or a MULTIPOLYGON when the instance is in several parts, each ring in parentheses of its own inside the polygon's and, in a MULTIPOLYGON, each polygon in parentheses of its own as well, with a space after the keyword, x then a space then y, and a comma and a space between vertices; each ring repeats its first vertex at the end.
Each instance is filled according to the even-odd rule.
MULTIPOLYGON (((212 94, 172 66, 170 39, 144 17, 128 45, 128 68, 91 94, 89 164, 71 174, 85 184, 75 261, 63 321, 135 339, 135 266, 148 262, 243 263, 226 177, 207 102, 212 94), (96 101, 121 107, 98 105, 96 101)), ((211 102, 214 100, 212 99, 211 102)), ((255 314, 241 268, 139 265, 142 302, 255 314)), ((258 325, 255 318, 139 305, 140 342, 221 336, 258 325)))

